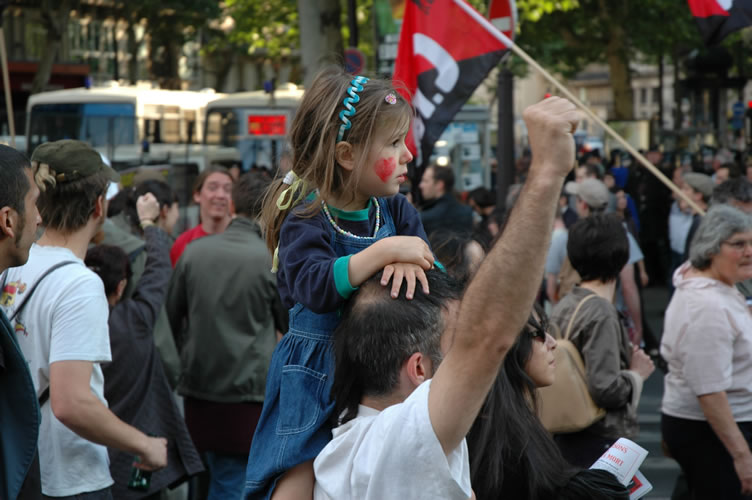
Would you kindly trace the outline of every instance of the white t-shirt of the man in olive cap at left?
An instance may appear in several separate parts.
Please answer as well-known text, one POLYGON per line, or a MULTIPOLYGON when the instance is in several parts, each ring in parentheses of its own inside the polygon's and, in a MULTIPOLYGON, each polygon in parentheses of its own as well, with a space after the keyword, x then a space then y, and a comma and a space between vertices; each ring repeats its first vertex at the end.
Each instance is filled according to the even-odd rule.
MULTIPOLYGON (((99 276, 67 248, 33 245, 26 265, 8 270, 0 306, 10 317, 24 293, 58 262, 75 261, 47 275, 21 313, 12 321, 16 339, 29 363, 37 395, 49 387, 50 364, 91 361, 91 390, 104 403, 99 363, 111 361, 109 307, 99 276)), ((107 448, 78 436, 42 406, 39 429, 42 492, 69 496, 112 484, 107 448)))

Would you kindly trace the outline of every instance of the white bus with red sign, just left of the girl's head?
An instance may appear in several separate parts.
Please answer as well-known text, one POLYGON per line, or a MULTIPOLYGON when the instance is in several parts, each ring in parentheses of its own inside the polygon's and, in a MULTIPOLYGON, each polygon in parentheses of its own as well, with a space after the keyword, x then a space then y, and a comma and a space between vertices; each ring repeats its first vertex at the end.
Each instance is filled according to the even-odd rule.
POLYGON ((302 98, 302 89, 287 84, 273 94, 259 90, 215 99, 206 106, 204 142, 235 148, 244 171, 253 166, 274 169, 302 98))

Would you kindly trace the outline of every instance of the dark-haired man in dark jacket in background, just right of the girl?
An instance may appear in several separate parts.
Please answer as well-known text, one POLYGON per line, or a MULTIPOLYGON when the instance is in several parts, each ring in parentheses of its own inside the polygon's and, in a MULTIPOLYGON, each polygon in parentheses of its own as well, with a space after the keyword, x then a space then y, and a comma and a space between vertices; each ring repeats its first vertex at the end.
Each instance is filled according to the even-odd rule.
POLYGON ((420 218, 426 234, 444 228, 455 233, 469 234, 473 229, 473 209, 454 197, 454 172, 451 167, 431 165, 420 180, 423 196, 420 218))

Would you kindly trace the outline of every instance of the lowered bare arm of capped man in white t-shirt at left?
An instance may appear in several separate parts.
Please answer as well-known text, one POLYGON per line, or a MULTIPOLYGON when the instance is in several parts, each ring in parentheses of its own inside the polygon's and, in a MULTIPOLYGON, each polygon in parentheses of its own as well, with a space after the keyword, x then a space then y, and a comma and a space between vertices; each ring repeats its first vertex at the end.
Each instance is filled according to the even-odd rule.
POLYGON ((52 413, 84 439, 141 457, 148 470, 167 465, 167 441, 152 438, 120 420, 89 386, 92 363, 58 361, 50 365, 52 413))

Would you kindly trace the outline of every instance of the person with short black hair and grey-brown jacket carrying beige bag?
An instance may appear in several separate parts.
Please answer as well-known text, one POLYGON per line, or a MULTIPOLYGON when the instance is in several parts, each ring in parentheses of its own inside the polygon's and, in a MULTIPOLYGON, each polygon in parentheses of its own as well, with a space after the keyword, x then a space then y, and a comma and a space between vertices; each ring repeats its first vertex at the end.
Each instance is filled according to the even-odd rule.
POLYGON ((562 333, 571 325, 569 338, 585 363, 590 395, 606 416, 582 431, 555 438, 568 462, 587 467, 619 437, 636 436, 637 402, 653 363, 642 349, 633 350, 612 304, 617 278, 629 258, 619 217, 592 215, 577 221, 569 229, 567 255, 582 283, 554 306, 551 323, 562 333))

